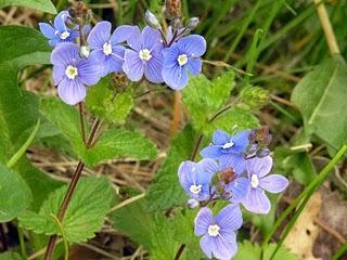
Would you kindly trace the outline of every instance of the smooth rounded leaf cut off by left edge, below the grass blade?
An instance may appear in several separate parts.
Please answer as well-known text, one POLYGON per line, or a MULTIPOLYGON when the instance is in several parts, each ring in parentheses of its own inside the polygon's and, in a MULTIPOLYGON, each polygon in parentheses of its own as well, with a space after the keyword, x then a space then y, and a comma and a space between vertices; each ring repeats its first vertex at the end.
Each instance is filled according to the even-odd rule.
POLYGON ((0 223, 16 218, 31 202, 30 188, 20 174, 0 164, 0 223))

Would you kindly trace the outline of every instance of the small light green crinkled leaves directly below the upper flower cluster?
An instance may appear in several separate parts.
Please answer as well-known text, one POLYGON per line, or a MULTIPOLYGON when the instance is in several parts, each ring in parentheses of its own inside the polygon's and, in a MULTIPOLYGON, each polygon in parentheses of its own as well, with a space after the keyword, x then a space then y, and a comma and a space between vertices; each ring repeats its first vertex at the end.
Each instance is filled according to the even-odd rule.
POLYGON ((88 89, 86 105, 98 117, 124 123, 133 106, 132 91, 125 90, 116 94, 116 90, 112 90, 110 80, 110 77, 105 77, 88 89))

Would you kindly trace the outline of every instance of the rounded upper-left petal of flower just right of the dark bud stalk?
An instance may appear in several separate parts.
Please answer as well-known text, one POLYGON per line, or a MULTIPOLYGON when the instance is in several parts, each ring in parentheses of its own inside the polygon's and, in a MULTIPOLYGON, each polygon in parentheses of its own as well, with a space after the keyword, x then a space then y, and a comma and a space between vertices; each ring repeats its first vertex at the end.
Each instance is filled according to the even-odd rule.
POLYGON ((99 22, 88 36, 88 43, 91 50, 103 49, 103 46, 110 41, 111 23, 103 21, 99 22))

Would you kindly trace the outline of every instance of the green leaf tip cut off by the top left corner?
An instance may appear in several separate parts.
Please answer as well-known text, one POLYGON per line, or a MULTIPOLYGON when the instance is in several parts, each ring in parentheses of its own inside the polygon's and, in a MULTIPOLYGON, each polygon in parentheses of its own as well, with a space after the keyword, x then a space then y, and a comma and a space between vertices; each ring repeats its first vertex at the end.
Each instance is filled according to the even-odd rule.
POLYGON ((9 5, 31 8, 46 13, 56 14, 56 10, 50 0, 0 0, 0 9, 9 5))

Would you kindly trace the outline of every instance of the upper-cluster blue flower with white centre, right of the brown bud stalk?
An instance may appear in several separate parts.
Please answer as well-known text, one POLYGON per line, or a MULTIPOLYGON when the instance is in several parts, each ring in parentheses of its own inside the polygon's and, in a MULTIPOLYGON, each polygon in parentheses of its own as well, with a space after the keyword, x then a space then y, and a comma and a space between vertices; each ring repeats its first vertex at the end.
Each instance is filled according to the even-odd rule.
POLYGON ((100 22, 90 31, 88 44, 91 50, 90 58, 102 67, 101 77, 110 73, 123 70, 124 53, 126 48, 120 42, 126 41, 133 32, 134 26, 123 25, 111 35, 110 22, 100 22))

